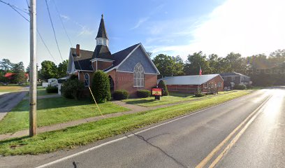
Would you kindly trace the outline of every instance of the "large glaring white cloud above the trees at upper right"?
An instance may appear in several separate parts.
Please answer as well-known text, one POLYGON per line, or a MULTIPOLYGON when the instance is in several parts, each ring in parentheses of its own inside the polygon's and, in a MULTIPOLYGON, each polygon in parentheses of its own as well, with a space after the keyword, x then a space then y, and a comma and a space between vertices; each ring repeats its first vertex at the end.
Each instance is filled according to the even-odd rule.
POLYGON ((184 45, 157 46, 152 52, 171 52, 185 58, 199 50, 220 56, 233 51, 246 57, 283 49, 284 6, 284 0, 228 0, 215 8, 198 27, 178 33, 191 34, 193 41, 184 45))

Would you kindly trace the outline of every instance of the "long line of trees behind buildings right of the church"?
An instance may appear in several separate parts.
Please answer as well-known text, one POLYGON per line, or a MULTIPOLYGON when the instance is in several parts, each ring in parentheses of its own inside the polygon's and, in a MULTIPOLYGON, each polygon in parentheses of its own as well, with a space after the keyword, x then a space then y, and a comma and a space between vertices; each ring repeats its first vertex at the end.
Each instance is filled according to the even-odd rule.
POLYGON ((270 55, 258 54, 242 57, 231 52, 226 57, 202 51, 194 52, 183 60, 176 57, 159 54, 152 59, 161 75, 183 76, 198 75, 200 68, 203 74, 238 72, 251 77, 254 85, 285 85, 285 50, 275 50, 270 55), (274 73, 268 73, 268 71, 274 73))

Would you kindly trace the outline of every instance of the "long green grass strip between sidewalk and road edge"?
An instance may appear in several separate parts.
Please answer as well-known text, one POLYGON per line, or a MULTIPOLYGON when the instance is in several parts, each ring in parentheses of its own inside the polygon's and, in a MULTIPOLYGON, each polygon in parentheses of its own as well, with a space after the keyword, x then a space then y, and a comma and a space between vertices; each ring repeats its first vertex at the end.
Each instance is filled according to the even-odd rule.
POLYGON ((93 141, 124 134, 162 120, 181 116, 209 106, 221 104, 231 99, 249 94, 247 91, 232 92, 219 97, 208 97, 195 102, 177 104, 130 115, 107 118, 92 123, 85 123, 64 130, 45 132, 36 137, 22 137, 0 141, 1 155, 24 155, 49 153, 63 148, 75 148, 93 141))

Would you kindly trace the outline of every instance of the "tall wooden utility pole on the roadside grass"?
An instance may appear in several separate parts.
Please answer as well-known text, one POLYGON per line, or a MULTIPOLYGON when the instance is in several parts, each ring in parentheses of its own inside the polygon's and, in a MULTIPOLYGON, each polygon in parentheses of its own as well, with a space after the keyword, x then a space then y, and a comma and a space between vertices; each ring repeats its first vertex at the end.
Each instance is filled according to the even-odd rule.
POLYGON ((36 0, 30 0, 29 136, 36 135, 36 0))

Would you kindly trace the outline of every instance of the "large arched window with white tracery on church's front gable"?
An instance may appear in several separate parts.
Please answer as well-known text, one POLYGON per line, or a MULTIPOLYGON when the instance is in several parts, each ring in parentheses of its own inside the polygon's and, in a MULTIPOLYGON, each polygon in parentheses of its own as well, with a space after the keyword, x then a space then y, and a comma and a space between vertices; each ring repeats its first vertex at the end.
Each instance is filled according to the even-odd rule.
POLYGON ((140 63, 133 69, 133 87, 145 87, 145 70, 140 63))

